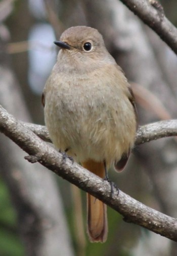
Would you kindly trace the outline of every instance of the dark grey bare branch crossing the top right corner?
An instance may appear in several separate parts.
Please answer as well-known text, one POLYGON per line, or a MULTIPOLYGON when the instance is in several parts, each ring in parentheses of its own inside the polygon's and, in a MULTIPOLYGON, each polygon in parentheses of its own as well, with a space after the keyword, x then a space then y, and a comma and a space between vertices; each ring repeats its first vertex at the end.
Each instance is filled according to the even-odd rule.
POLYGON ((165 17, 156 0, 120 0, 177 54, 177 29, 165 17))

